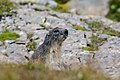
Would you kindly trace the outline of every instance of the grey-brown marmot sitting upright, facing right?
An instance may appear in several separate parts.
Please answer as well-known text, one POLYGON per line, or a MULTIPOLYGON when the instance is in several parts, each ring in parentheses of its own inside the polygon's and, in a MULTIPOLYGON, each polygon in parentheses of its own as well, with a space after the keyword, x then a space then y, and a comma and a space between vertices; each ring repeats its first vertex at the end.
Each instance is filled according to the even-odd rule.
POLYGON ((64 28, 54 28, 46 35, 44 42, 36 49, 31 59, 40 59, 44 63, 58 60, 63 41, 68 37, 68 30, 64 28))

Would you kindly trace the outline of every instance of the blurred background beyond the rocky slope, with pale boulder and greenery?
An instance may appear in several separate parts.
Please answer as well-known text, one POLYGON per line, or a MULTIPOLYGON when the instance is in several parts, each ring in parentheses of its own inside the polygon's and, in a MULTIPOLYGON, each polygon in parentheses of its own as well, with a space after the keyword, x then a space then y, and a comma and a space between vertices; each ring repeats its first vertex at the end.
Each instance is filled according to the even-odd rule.
POLYGON ((54 10, 69 11, 80 15, 99 15, 120 21, 120 0, 12 0, 49 5, 54 10), (67 10, 66 10, 67 9, 67 10))

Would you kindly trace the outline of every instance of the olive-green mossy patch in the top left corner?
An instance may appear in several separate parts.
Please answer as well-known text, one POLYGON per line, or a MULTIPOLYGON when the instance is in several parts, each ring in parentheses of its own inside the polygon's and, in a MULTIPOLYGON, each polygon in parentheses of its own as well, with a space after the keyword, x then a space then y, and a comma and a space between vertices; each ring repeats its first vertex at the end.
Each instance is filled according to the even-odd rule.
POLYGON ((0 15, 4 15, 4 13, 10 13, 13 8, 14 4, 9 0, 0 0, 0 15))

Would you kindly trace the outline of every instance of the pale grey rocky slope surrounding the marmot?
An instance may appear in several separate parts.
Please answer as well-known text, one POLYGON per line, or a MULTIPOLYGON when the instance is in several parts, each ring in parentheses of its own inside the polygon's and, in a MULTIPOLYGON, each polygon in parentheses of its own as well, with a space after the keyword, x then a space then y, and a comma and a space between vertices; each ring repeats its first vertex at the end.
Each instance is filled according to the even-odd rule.
POLYGON ((8 29, 20 35, 16 40, 0 41, 1 63, 28 63, 26 58, 34 53, 28 44, 34 41, 37 47, 50 29, 61 27, 69 31, 61 49, 61 62, 66 67, 90 63, 112 78, 119 77, 120 23, 101 16, 56 12, 40 3, 18 3, 16 14, 0 21, 0 33, 8 29))

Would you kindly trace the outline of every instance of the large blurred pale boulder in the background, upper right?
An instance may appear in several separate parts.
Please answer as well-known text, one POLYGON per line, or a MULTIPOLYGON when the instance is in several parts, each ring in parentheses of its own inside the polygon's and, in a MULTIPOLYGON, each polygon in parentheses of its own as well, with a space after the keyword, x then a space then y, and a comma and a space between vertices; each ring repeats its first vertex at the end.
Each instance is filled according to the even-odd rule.
POLYGON ((109 11, 108 2, 109 0, 71 0, 68 5, 80 15, 106 16, 109 11))

